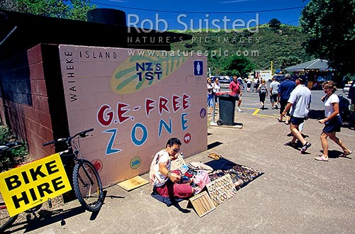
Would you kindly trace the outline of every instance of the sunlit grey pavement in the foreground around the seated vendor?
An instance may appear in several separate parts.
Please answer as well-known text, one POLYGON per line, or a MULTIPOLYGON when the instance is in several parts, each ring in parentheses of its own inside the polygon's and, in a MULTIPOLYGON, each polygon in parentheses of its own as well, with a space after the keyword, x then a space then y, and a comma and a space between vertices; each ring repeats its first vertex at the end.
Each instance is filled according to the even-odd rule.
MULTIPOLYGON (((307 154, 284 146, 289 129, 275 118, 236 113, 244 128, 209 126, 209 149, 185 159, 208 162, 217 152, 227 160, 264 172, 214 211, 199 218, 187 201, 167 207, 153 199, 151 186, 125 191, 107 189, 102 210, 93 215, 77 201, 13 227, 13 233, 354 233, 355 160, 339 158, 329 142, 329 162, 317 162, 322 125, 305 123, 312 143, 307 154)), ((355 150, 355 131, 342 128, 339 137, 355 150)), ((182 145, 183 148, 183 145, 182 145)), ((148 179, 148 174, 143 174, 148 179)))

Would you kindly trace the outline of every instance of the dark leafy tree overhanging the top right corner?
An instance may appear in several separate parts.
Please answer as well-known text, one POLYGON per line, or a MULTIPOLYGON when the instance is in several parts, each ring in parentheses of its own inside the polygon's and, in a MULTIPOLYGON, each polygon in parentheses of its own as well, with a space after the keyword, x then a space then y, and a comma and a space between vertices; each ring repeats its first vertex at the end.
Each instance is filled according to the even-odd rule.
POLYGON ((355 0, 312 0, 300 23, 307 33, 306 51, 342 72, 355 73, 355 0))

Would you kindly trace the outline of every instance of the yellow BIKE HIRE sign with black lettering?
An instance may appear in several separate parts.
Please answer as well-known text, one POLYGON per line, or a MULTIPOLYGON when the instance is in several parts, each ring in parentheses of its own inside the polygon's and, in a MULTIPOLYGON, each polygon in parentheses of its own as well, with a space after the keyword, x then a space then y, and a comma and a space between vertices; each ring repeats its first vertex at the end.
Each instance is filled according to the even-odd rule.
POLYGON ((10 216, 71 189, 58 153, 0 174, 0 191, 10 216))

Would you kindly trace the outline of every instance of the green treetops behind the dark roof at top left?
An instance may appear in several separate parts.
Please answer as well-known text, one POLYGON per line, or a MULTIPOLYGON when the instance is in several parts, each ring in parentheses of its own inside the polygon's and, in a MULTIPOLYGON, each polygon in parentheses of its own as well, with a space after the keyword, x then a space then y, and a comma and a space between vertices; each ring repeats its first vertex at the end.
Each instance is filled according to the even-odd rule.
POLYGON ((87 11, 95 9, 89 0, 5 0, 1 9, 31 13, 40 16, 87 20, 87 11))

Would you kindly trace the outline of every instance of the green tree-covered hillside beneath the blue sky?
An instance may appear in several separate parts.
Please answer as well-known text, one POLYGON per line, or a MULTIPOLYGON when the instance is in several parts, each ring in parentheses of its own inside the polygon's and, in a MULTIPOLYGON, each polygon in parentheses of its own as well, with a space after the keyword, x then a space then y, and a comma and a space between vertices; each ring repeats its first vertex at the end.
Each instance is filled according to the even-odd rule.
MULTIPOLYGON (((276 20, 276 19, 273 19, 276 20)), ((277 22, 277 20, 276 20, 277 22)), ((247 74, 258 69, 273 71, 314 59, 306 54, 307 35, 300 27, 271 23, 240 32, 187 32, 192 40, 175 43, 173 50, 202 51, 212 74, 247 74)))

